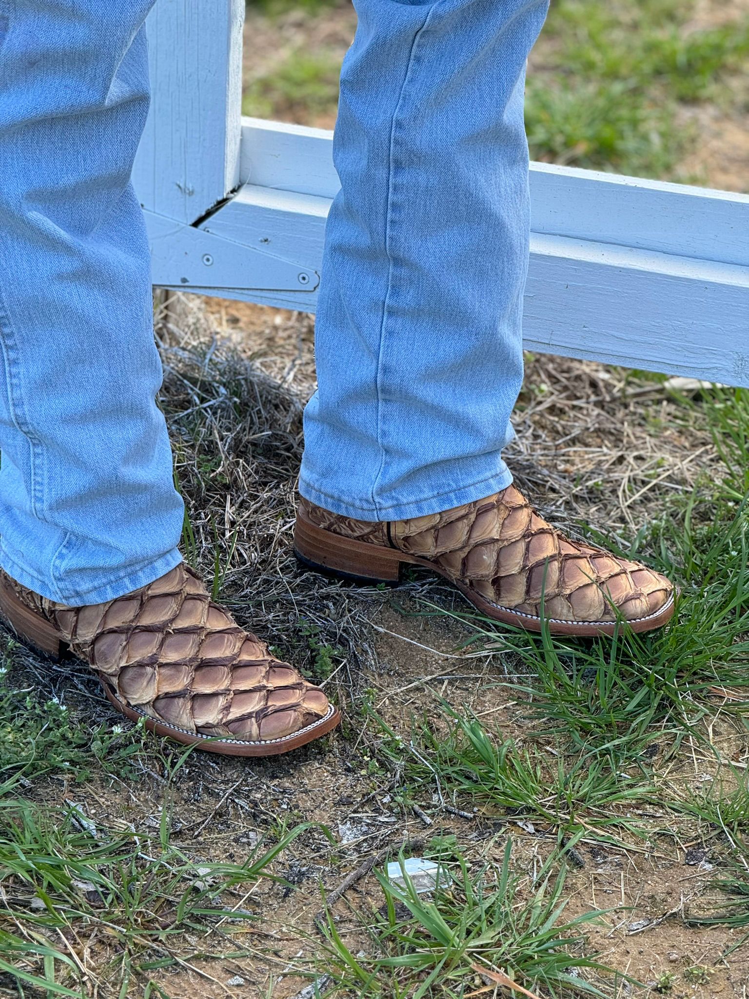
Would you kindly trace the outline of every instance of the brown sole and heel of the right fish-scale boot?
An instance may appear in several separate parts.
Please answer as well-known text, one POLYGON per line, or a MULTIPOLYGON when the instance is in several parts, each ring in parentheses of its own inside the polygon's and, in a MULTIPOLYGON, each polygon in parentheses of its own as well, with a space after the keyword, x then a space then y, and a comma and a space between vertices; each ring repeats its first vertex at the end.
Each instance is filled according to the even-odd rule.
MULTIPOLYGON (((332 530, 317 526, 300 510, 294 531, 294 552, 308 568, 351 579, 355 582, 396 586, 405 565, 421 565, 453 584, 482 614, 502 624, 511 624, 526 631, 540 632, 547 627, 550 634, 590 637, 599 634, 613 635, 621 624, 617 621, 567 621, 555 617, 526 614, 511 607, 502 607, 475 593, 465 583, 453 579, 447 572, 426 558, 419 558, 397 548, 385 548, 368 541, 343 537, 332 530)), ((675 590, 657 611, 646 617, 627 621, 632 631, 640 633, 662 627, 673 617, 675 590)))

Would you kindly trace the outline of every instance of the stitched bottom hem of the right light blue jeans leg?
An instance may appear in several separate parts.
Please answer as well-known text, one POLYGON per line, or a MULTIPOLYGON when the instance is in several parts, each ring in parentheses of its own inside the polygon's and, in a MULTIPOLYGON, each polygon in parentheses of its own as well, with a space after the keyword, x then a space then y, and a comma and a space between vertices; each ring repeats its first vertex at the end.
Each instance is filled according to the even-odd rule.
POLYGON ((322 490, 317 489, 310 482, 300 479, 299 491, 305 500, 314 502, 332 513, 340 513, 342 516, 352 516, 357 520, 409 520, 414 516, 425 516, 429 513, 441 513, 442 510, 452 509, 454 506, 462 506, 463 503, 483 500, 484 497, 491 496, 492 493, 499 493, 512 484, 512 473, 504 462, 498 472, 488 476, 486 479, 479 479, 468 486, 461 486, 458 489, 448 490, 444 493, 436 493, 421 500, 410 502, 394 503, 390 506, 379 504, 373 507, 372 502, 359 506, 349 500, 339 500, 337 497, 329 496, 322 490), (386 513, 386 516, 382 516, 386 513))

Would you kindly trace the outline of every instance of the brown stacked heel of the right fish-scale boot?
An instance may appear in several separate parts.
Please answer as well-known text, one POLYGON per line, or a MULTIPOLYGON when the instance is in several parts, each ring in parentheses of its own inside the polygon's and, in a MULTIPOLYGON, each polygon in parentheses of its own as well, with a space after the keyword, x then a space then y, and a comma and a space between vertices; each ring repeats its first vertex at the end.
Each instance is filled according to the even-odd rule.
POLYGON ((302 513, 294 530, 294 553, 310 568, 355 579, 358 582, 386 582, 400 578, 400 565, 411 559, 394 548, 342 537, 311 523, 302 513))

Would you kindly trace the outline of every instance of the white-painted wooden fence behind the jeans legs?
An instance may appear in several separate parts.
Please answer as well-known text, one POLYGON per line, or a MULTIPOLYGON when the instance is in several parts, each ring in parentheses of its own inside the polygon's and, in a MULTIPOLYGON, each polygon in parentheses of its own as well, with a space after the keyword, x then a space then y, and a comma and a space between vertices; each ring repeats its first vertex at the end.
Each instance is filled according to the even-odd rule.
MULTIPOLYGON (((158 0, 154 284, 314 312, 330 132, 241 117, 244 0, 158 0)), ((532 164, 525 346, 749 387, 749 196, 532 164)))

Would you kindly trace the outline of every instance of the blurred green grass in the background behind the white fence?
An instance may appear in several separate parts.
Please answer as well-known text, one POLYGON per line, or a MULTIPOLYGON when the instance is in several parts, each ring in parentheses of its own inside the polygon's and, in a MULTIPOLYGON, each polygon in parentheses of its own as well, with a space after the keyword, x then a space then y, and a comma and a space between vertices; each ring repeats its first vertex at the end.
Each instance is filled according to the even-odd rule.
MULTIPOLYGON (((276 60, 251 72, 245 114, 303 124, 332 122, 338 72, 355 20, 348 3, 285 0, 253 4, 299 36, 276 60), (302 28, 288 22, 306 16, 302 28), (338 47, 310 51, 309 36, 326 8, 351 21, 338 47), (300 12, 304 12, 300 15, 300 12), (286 20, 285 20, 286 18, 286 20)), ((699 141, 690 112, 712 105, 730 113, 746 101, 742 68, 749 58, 749 16, 695 27, 694 0, 599 4, 556 0, 532 56, 526 89, 531 157, 619 173, 701 181, 680 164, 699 141), (743 95, 743 98, 742 96, 743 95)))

